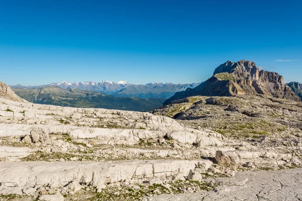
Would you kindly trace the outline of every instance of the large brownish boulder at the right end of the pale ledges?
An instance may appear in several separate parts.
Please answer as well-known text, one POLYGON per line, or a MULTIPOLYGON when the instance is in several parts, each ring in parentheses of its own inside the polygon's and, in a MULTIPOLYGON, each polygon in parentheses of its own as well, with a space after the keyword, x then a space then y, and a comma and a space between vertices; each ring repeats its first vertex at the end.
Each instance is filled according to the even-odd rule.
POLYGON ((236 170, 239 167, 239 159, 227 152, 216 151, 215 159, 222 167, 229 167, 231 170, 236 170))

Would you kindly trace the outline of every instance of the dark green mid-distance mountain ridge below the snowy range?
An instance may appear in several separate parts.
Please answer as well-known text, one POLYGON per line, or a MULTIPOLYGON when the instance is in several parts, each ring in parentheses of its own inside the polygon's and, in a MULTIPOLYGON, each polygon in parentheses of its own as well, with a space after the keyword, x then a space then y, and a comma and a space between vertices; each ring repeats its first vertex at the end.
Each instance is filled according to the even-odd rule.
POLYGON ((35 104, 66 107, 104 108, 130 111, 152 111, 163 106, 164 98, 114 97, 94 91, 62 89, 57 86, 42 88, 13 88, 24 99, 35 104))

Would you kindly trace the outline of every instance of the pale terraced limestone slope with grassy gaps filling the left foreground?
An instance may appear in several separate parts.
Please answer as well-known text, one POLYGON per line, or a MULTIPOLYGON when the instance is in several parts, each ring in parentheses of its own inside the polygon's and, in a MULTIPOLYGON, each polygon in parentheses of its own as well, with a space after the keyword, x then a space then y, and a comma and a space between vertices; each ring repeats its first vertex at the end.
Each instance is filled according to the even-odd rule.
POLYGON ((234 174, 232 166, 213 163, 216 145, 225 143, 216 132, 150 113, 6 97, 0 99, 0 200, 137 200, 210 190, 216 184, 202 178, 234 174))

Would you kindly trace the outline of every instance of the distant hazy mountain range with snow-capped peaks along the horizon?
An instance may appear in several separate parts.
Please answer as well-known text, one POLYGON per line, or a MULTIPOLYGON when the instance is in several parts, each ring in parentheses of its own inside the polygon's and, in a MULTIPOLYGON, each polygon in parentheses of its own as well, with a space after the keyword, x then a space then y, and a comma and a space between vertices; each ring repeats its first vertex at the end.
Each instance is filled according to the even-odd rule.
POLYGON ((140 97, 140 98, 169 98, 177 91, 187 88, 194 88, 200 83, 191 84, 173 84, 173 83, 147 83, 147 84, 131 84, 126 81, 85 81, 85 82, 57 82, 39 86, 23 86, 20 84, 12 85, 12 88, 28 88, 35 89, 45 86, 57 86, 62 89, 80 89, 113 95, 117 97, 140 97))

